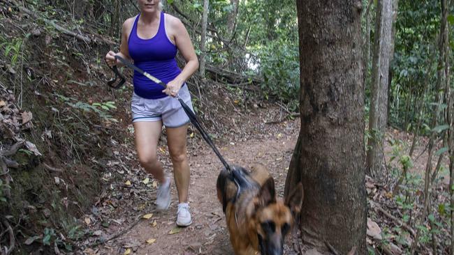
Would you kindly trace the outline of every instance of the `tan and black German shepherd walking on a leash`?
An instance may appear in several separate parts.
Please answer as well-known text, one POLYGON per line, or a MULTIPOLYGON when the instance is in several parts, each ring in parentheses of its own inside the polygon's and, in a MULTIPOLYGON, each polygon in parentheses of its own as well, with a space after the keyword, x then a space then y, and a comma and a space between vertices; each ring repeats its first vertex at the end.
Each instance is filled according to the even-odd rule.
POLYGON ((256 165, 251 171, 231 168, 230 172, 224 169, 219 173, 217 196, 226 214, 235 254, 283 254, 285 235, 301 210, 301 183, 282 201, 276 197, 274 180, 265 167, 256 165))

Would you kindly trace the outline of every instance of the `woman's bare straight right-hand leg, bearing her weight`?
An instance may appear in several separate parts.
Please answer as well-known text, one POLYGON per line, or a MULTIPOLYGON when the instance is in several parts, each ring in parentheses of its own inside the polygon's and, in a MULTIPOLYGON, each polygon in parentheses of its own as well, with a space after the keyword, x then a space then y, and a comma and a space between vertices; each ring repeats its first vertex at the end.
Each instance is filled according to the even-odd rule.
POLYGON ((186 134, 188 124, 181 127, 166 127, 170 160, 173 163, 175 185, 180 203, 188 202, 189 160, 186 153, 186 134))

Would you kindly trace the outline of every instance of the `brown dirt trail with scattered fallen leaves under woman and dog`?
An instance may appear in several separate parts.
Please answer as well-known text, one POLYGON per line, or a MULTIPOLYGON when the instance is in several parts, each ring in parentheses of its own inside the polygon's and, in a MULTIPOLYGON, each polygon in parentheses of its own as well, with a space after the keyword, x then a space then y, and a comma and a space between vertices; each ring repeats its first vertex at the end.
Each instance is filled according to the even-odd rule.
MULTIPOLYGON (((273 127, 270 127, 272 130, 268 128, 260 135, 253 134, 252 137, 255 138, 229 142, 219 149, 230 164, 247 168, 256 163, 267 166, 274 177, 277 193, 282 196, 288 164, 298 139, 298 124, 299 120, 273 124, 273 127)), ((133 169, 131 171, 133 176, 126 174, 123 180, 131 180, 133 187, 122 187, 118 190, 122 194, 112 192, 112 195, 101 196, 98 207, 94 207, 98 210, 98 218, 87 215, 93 219, 89 222, 94 234, 86 244, 93 243, 95 238, 99 240, 109 238, 115 233, 124 234, 93 249, 85 249, 84 254, 125 254, 125 252, 127 254, 128 249, 131 251, 130 254, 233 254, 224 212, 216 196, 216 180, 222 164, 203 141, 198 141, 198 147, 189 146, 191 165, 189 203, 193 217, 191 226, 176 229, 175 183, 172 187, 173 202, 169 210, 157 212, 154 205, 156 187, 142 183, 145 177, 149 177, 149 183, 154 181, 151 176, 145 176, 144 171, 133 169), (153 216, 140 220, 130 231, 122 232, 135 222, 138 215, 147 213, 152 213, 153 216), (103 225, 103 222, 108 224, 103 225), (175 230, 179 232, 169 234, 175 230), (153 243, 148 244, 147 240, 153 243)), ((168 157, 161 157, 161 161, 166 169, 171 169, 168 157)))

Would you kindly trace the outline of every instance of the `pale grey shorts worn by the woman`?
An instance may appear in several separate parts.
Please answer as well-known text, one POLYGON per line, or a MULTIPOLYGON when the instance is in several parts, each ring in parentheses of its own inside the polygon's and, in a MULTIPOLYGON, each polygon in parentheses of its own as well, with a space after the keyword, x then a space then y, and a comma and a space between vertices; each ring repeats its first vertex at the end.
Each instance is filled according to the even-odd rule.
MULTIPOLYGON (((182 86, 178 96, 193 110, 191 94, 187 85, 182 86)), ((189 123, 189 117, 184 112, 180 102, 173 97, 147 99, 133 93, 131 100, 133 122, 161 121, 166 127, 180 127, 189 123)))

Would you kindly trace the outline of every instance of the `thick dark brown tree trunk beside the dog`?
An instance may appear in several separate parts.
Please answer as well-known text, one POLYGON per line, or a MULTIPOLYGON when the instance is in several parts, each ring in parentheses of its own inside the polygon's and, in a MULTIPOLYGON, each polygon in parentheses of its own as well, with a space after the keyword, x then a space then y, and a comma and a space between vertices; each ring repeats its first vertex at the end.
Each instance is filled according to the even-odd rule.
POLYGON ((306 245, 366 254, 361 1, 298 0, 297 8, 301 130, 285 194, 302 180, 306 245))

